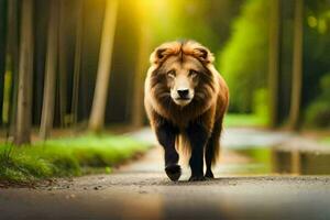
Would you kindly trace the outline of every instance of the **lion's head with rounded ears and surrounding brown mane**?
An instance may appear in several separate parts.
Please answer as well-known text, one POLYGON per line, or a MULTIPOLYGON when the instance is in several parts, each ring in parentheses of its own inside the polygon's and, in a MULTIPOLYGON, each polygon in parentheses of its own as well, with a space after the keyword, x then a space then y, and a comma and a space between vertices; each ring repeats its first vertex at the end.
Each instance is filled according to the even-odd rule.
POLYGON ((195 42, 161 45, 151 56, 150 91, 155 102, 164 108, 207 107, 216 91, 212 61, 212 54, 195 42))

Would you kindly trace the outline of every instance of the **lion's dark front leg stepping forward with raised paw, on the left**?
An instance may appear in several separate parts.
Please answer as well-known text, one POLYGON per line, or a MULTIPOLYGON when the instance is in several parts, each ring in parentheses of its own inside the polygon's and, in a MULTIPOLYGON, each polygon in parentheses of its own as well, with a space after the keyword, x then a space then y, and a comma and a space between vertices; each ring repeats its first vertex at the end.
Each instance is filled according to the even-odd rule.
POLYGON ((179 155, 175 148, 178 129, 166 121, 158 124, 155 129, 157 140, 165 151, 165 172, 170 180, 176 182, 182 175, 182 168, 178 165, 179 155))

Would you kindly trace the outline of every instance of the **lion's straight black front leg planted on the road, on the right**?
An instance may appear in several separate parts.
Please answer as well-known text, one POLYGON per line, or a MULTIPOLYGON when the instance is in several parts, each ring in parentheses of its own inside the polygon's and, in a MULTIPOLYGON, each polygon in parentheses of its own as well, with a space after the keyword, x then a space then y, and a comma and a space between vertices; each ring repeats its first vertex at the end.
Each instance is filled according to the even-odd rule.
POLYGON ((191 176, 189 180, 205 180, 204 177, 204 148, 208 141, 207 130, 198 123, 191 123, 186 130, 191 146, 189 165, 191 176))

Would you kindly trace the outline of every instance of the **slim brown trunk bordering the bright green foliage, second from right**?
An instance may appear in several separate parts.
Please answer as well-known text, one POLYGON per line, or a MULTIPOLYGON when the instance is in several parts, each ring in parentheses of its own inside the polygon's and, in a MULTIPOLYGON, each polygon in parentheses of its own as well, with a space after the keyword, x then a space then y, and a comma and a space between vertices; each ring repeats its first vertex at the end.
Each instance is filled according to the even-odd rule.
POLYGON ((270 63, 268 63, 268 88, 270 88, 270 125, 278 125, 278 89, 279 89, 279 0, 271 0, 270 15, 270 63))

